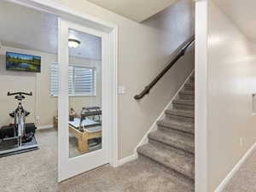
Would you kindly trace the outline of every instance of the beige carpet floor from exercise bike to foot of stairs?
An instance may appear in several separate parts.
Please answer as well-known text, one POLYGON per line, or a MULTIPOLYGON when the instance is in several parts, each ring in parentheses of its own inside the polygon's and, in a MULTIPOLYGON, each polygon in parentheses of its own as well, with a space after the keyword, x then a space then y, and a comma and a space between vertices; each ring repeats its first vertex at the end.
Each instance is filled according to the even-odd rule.
MULTIPOLYGON (((0 159, 1 192, 191 192, 150 160, 139 158, 113 168, 101 166, 57 183, 57 132, 38 131, 40 149, 0 159)), ((86 163, 86 162, 85 162, 86 163)))

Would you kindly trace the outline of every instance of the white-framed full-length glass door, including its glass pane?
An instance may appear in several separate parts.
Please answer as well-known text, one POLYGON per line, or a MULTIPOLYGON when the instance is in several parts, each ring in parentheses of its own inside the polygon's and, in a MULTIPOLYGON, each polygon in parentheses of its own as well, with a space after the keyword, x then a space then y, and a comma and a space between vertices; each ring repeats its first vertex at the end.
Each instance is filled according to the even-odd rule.
POLYGON ((59 19, 58 180, 109 162, 108 35, 59 19))

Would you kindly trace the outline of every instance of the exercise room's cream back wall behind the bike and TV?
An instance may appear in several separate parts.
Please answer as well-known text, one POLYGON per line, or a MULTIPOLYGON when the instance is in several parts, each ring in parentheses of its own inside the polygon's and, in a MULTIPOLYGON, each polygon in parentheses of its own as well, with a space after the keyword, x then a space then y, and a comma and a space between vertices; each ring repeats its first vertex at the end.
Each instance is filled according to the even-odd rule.
MULTIPOLYGON (((32 91, 33 96, 26 96, 23 102, 24 107, 31 112, 26 119, 27 122, 35 122, 38 126, 53 125, 53 117, 57 115, 57 97, 50 96, 50 64, 57 61, 57 55, 34 51, 29 49, 17 49, 2 47, 0 55, 0 126, 9 125, 13 119, 9 112, 17 107, 14 96, 7 96, 7 92, 32 91), (6 71, 5 53, 12 51, 27 55, 41 56, 41 73, 24 73, 6 71), (39 121, 37 121, 37 116, 39 121)), ((101 61, 87 60, 78 57, 71 57, 70 64, 96 67, 97 71, 97 95, 96 96, 70 96, 69 106, 78 113, 85 106, 101 106, 101 61)))

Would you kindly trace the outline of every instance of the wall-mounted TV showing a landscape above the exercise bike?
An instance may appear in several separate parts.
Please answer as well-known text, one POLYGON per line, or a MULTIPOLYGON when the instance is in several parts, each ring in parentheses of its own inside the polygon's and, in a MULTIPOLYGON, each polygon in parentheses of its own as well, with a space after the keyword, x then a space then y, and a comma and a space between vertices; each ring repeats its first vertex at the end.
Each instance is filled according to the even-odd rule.
POLYGON ((41 56, 6 52, 6 70, 41 72, 41 56))

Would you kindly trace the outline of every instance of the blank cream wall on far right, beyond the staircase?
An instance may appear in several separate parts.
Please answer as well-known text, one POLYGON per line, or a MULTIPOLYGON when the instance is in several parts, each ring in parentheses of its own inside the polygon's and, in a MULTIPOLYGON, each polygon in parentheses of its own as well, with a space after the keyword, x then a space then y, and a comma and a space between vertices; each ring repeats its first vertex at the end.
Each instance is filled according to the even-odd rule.
MULTIPOLYGON (((201 25, 207 25, 208 31, 207 79, 196 76, 195 87, 201 80, 207 84, 207 114, 201 118, 207 118, 207 192, 212 192, 256 141, 256 116, 252 111, 256 46, 214 3, 209 2, 205 9, 208 20, 201 25)), ((195 102, 201 105, 205 101, 195 102)), ((201 129, 205 127, 196 127, 197 131, 201 129)), ((204 137, 200 139, 205 141, 204 137)))

